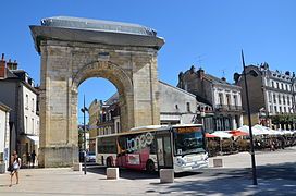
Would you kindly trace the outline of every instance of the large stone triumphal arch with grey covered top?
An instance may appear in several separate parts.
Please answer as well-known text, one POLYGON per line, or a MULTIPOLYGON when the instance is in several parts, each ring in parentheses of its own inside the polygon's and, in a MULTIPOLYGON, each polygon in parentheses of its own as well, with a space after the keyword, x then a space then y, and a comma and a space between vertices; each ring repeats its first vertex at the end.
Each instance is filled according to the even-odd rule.
POLYGON ((116 87, 122 131, 159 124, 157 54, 164 40, 156 30, 65 16, 44 19, 30 30, 41 57, 39 167, 78 162, 77 89, 89 77, 116 87))

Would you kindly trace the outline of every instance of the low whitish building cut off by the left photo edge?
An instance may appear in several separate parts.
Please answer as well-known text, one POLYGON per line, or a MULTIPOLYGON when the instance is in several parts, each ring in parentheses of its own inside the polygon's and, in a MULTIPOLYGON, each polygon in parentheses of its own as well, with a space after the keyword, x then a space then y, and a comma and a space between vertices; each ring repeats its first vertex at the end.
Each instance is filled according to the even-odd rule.
POLYGON ((4 173, 10 161, 10 125, 11 109, 0 101, 0 173, 4 173))

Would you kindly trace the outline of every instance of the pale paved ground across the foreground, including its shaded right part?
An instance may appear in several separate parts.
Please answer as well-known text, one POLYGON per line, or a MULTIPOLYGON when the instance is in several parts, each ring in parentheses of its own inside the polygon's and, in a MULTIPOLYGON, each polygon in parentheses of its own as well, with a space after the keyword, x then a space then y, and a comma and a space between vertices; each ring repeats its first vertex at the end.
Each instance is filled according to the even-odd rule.
POLYGON ((219 157, 223 168, 209 168, 160 184, 157 174, 121 171, 121 179, 107 180, 104 169, 87 175, 64 169, 23 169, 18 185, 9 187, 9 173, 0 174, 0 195, 296 195, 296 147, 257 152, 258 186, 252 185, 247 152, 219 157))

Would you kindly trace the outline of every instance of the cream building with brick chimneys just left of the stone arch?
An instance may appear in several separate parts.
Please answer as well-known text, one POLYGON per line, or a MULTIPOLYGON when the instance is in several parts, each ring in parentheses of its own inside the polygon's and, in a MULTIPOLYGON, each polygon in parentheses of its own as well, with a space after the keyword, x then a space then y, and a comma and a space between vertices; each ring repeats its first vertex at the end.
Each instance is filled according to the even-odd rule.
POLYGON ((38 90, 27 72, 17 69, 17 62, 0 61, 0 100, 10 107, 10 151, 18 155, 36 151, 39 145, 38 90))

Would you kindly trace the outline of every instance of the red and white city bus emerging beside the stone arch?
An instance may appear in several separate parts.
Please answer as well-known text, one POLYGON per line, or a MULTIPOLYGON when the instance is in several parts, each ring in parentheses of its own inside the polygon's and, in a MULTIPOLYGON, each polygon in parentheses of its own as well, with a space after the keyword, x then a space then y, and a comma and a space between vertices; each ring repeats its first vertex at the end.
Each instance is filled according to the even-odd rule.
POLYGON ((96 162, 107 167, 178 173, 209 166, 201 124, 136 127, 97 136, 96 144, 96 162))

